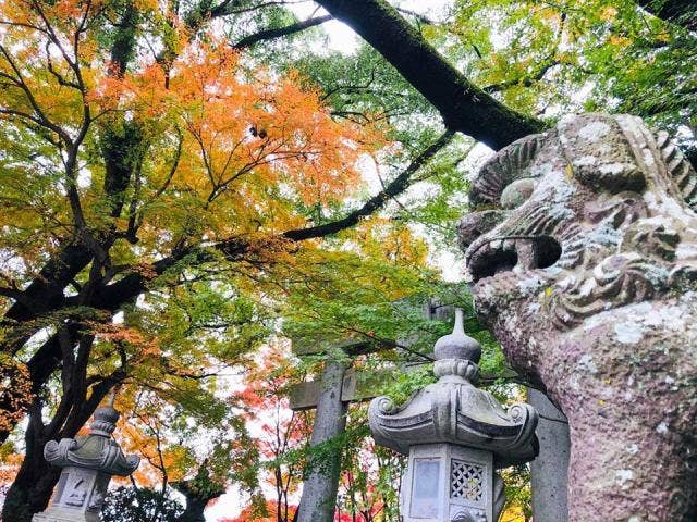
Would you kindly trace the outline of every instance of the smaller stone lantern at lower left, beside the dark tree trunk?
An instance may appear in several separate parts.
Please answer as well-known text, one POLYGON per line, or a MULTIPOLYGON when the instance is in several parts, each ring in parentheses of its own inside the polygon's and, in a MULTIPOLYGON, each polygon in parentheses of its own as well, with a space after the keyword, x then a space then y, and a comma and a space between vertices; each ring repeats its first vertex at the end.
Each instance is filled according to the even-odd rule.
POLYGON ((113 475, 127 476, 140 462, 137 456, 124 456, 111 438, 119 412, 110 405, 95 411, 88 435, 49 440, 44 457, 63 472, 53 493, 51 506, 33 522, 98 522, 99 512, 113 475))

